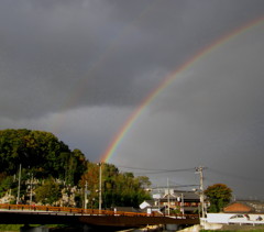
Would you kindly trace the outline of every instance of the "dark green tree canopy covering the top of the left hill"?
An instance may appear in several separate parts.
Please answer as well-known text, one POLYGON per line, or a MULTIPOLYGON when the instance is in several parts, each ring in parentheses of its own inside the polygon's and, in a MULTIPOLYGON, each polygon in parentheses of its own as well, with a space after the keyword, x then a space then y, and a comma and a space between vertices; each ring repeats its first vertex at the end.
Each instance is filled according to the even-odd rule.
POLYGON ((72 152, 50 132, 0 131, 0 169, 14 175, 20 164, 36 178, 52 176, 74 185, 85 172, 86 158, 79 150, 72 152))

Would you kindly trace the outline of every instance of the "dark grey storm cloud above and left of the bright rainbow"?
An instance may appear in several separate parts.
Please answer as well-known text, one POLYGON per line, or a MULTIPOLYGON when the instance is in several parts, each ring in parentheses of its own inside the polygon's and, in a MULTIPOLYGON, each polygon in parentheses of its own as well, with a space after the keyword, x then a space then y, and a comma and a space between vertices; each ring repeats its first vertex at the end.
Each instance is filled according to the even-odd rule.
POLYGON ((1 115, 61 111, 81 91, 70 107, 136 106, 262 12, 262 1, 1 1, 1 115))

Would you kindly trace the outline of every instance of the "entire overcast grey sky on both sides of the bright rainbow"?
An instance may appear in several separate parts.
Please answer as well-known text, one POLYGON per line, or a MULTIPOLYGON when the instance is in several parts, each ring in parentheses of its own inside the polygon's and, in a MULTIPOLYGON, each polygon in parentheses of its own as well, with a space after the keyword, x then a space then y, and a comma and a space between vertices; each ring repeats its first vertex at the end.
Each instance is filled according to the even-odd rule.
MULTIPOLYGON (((100 159, 167 75, 264 16, 263 0, 2 0, 0 129, 54 133, 100 159)), ((198 58, 148 104, 111 163, 205 170, 235 196, 264 199, 264 22, 198 58)), ((147 174, 198 184, 194 172, 147 174)))

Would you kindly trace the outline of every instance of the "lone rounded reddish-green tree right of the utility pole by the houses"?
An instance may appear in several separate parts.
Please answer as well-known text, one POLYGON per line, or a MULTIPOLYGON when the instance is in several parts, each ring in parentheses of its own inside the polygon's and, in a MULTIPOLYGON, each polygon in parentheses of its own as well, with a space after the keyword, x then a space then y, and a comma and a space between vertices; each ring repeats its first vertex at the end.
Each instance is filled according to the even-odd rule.
POLYGON ((232 190, 224 184, 215 184, 205 190, 205 195, 210 202, 209 211, 220 212, 230 202, 232 190))

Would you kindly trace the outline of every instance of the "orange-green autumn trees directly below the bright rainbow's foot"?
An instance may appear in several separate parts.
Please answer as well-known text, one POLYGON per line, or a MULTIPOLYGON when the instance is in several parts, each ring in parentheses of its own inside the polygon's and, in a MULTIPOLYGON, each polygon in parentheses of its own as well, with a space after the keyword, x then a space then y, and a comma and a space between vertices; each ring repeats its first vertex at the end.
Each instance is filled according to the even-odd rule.
MULTIPOLYGON (((148 177, 134 177, 132 173, 119 173, 119 169, 110 164, 102 164, 102 208, 116 206, 139 207, 151 199, 144 187, 151 185, 148 177)), ((98 207, 99 166, 89 163, 88 170, 81 178, 81 186, 88 184, 90 207, 98 207)))

